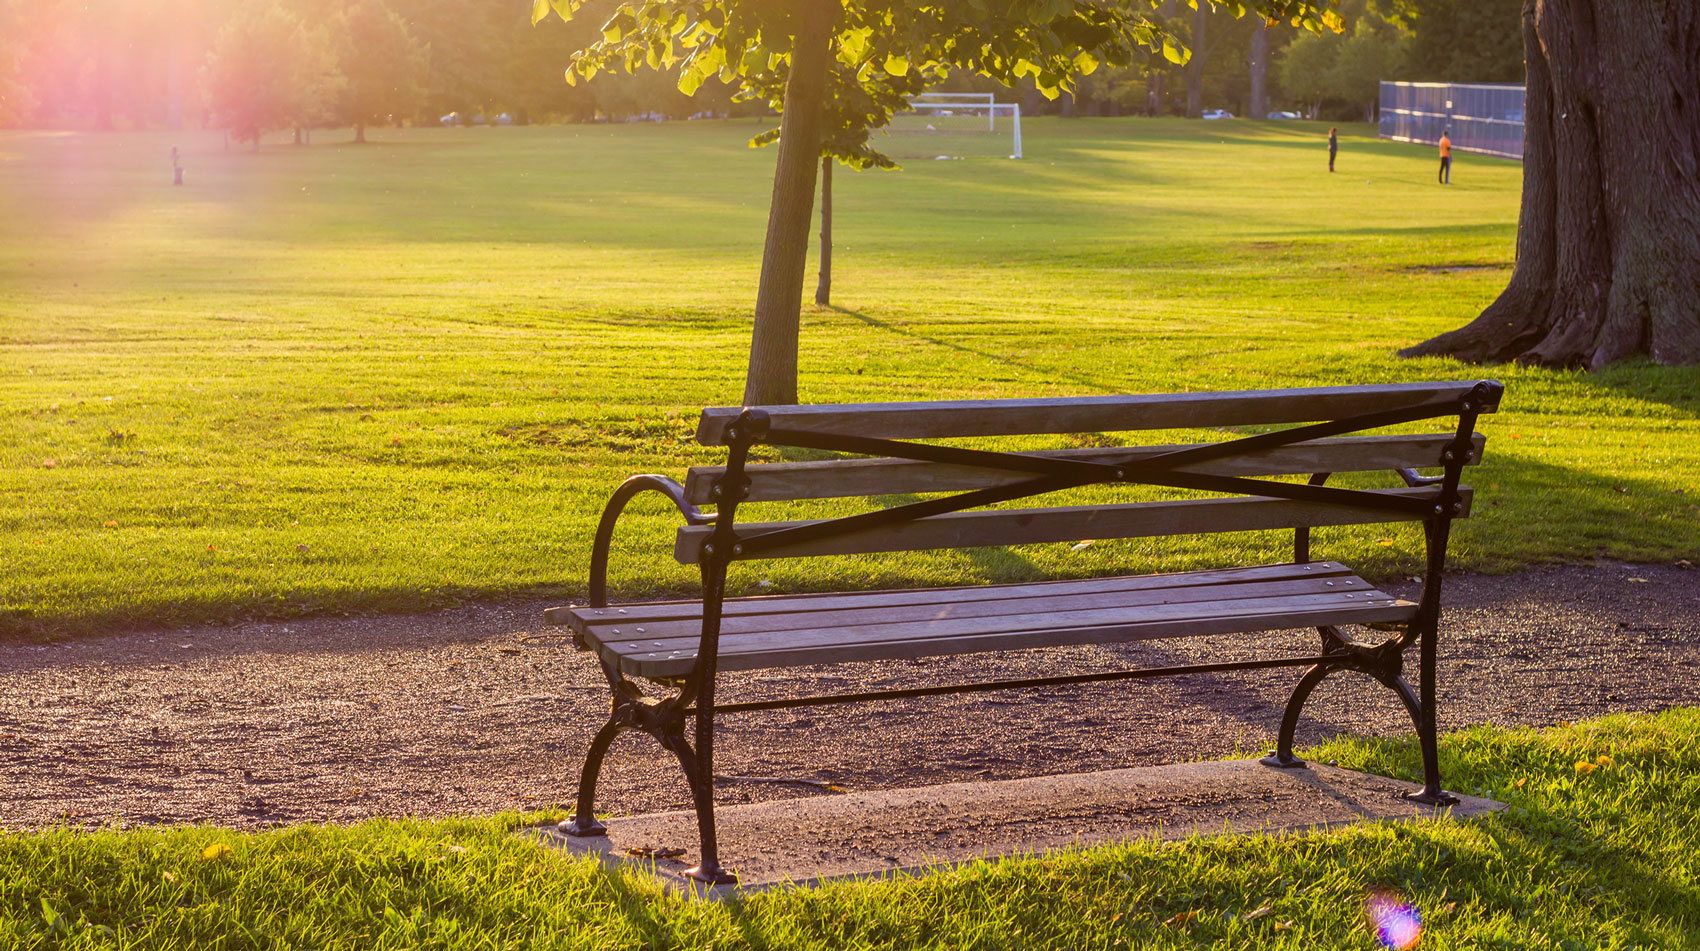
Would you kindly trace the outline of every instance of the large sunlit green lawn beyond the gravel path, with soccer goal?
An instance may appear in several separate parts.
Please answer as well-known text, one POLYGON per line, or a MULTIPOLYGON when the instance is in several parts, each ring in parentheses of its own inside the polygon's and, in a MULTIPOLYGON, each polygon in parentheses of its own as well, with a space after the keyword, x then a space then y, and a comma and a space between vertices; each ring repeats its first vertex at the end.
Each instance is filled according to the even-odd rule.
MULTIPOLYGON (((741 395, 753 122, 0 134, 0 635, 573 595, 610 488, 741 395), (187 185, 170 187, 184 150, 187 185)), ((1693 556, 1700 373, 1408 362, 1493 299, 1520 168, 1309 122, 1037 119, 1022 162, 836 177, 808 401, 1499 376, 1459 565, 1693 556)), ((942 151, 949 138, 940 140, 942 151)), ((690 575, 658 507, 627 594, 690 575)), ((756 514, 756 512, 751 512, 756 514)), ((1414 531, 1318 553, 1408 572, 1414 531), (1391 541, 1391 544, 1387 544, 1391 541)), ((1284 536, 830 563, 774 590, 1280 558, 1284 536)))

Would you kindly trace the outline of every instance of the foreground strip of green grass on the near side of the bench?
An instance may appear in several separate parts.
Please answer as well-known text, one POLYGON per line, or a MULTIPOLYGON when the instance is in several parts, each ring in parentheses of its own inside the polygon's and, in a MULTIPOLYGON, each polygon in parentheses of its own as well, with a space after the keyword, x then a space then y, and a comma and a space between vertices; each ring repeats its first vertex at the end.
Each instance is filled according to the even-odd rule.
MULTIPOLYGON (((1700 946, 1700 711, 1442 738, 1474 822, 1153 840, 721 903, 663 897, 510 835, 505 815, 241 835, 0 834, 8 948, 1377 949, 1365 898, 1418 948, 1700 946)), ((1414 777, 1414 742, 1306 754, 1414 777)), ((558 818, 558 817, 554 817, 558 818)))

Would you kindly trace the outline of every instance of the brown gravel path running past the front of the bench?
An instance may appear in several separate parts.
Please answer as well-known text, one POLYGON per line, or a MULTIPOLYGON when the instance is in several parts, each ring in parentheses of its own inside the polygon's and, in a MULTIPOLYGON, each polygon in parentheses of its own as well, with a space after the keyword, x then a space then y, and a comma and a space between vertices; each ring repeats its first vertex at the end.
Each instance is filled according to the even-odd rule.
MULTIPOLYGON (((1396 587, 1409 595, 1414 585, 1396 587)), ((1549 725, 1700 698, 1700 570, 1566 567, 1454 575, 1442 728, 1549 725)), ((0 645, 0 825, 267 827, 566 805, 607 709, 590 657, 544 604, 321 618, 0 645)), ((996 675, 1309 650, 1314 633, 1027 652, 996 675)), ((989 675, 986 658, 733 675, 722 701, 989 675)), ((721 801, 1149 766, 1263 749, 1292 670, 743 715, 716 743, 721 801)), ((1300 738, 1406 732, 1363 677, 1324 684, 1300 738)), ((687 805, 677 767, 627 735, 600 808, 687 805)))

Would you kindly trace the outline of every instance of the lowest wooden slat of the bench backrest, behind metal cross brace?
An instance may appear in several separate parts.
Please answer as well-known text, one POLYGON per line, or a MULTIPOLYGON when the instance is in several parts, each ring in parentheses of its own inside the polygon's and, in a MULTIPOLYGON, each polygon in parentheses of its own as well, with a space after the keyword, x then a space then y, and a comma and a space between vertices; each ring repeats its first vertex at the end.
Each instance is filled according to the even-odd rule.
MULTIPOLYGON (((1433 498, 1438 487, 1380 488, 1377 495, 1433 498)), ((1469 515, 1470 488, 1459 487, 1469 515)), ((870 555, 879 551, 921 551, 932 548, 983 548, 996 544, 1040 544, 1085 538, 1154 538, 1171 534, 1207 534, 1227 531, 1295 529, 1413 521, 1414 515, 1386 509, 1360 509, 1287 498, 1187 498, 1175 502, 1136 502, 1124 505, 1056 505, 1049 509, 993 509, 984 512, 950 512, 928 519, 898 522, 857 532, 804 541, 763 551, 762 558, 797 558, 806 555, 870 555)), ((751 538, 802 522, 746 522, 736 526, 738 538, 751 538)), ((678 529, 673 556, 683 565, 700 560, 702 543, 712 526, 678 529)))

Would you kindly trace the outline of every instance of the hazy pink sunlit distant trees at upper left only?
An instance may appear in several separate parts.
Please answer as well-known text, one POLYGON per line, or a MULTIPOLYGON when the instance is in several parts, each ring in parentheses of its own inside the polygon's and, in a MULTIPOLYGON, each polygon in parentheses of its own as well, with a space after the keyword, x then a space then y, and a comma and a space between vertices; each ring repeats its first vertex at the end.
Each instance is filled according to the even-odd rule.
POLYGON ((595 10, 530 22, 517 0, 0 0, 0 124, 269 129, 508 114, 595 121, 726 114, 677 77, 563 80, 595 10))

